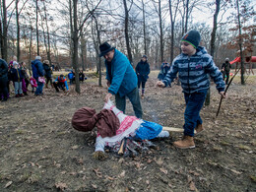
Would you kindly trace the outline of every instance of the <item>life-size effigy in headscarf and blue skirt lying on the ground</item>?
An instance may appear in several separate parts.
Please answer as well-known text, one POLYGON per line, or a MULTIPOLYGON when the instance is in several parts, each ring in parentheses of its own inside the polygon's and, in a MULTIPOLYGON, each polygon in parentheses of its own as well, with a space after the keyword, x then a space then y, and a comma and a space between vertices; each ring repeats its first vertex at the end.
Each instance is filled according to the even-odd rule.
POLYGON ((112 101, 104 104, 103 109, 96 113, 90 107, 83 107, 77 110, 72 118, 72 126, 83 132, 92 131, 97 127, 96 150, 94 158, 104 160, 106 158, 104 148, 111 148, 118 152, 122 147, 122 141, 129 139, 124 147, 125 151, 136 153, 135 147, 145 149, 142 141, 148 142, 155 138, 169 137, 169 132, 163 131, 158 123, 139 119, 135 116, 125 115, 113 105, 112 101), (137 143, 136 141, 141 141, 137 143))

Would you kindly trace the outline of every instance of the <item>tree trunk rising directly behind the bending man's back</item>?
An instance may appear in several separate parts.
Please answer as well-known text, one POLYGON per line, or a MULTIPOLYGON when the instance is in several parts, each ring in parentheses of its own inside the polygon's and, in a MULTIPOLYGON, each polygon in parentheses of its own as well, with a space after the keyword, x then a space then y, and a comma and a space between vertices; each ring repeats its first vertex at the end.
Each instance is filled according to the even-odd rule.
POLYGON ((126 47, 127 47, 127 53, 128 53, 128 59, 130 63, 133 65, 133 58, 132 58, 132 51, 130 47, 130 42, 129 42, 129 12, 126 4, 126 0, 123 0, 124 4, 124 11, 125 11, 125 20, 124 20, 124 34, 125 34, 125 42, 126 42, 126 47))

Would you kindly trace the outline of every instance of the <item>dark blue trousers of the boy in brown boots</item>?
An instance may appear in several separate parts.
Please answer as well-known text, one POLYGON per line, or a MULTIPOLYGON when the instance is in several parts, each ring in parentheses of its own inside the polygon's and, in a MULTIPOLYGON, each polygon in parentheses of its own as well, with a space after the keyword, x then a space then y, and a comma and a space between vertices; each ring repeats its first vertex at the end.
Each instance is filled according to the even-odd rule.
POLYGON ((203 107, 205 98, 207 95, 207 90, 199 91, 200 93, 186 94, 186 109, 184 113, 185 124, 184 135, 194 136, 194 129, 198 124, 202 124, 203 121, 200 117, 200 110, 203 107))

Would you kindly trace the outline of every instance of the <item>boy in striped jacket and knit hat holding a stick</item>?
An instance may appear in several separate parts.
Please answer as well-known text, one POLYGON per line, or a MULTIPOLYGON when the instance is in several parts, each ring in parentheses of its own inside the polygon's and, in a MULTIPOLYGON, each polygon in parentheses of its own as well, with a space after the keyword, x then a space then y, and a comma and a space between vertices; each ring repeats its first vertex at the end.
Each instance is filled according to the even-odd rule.
POLYGON ((200 40, 200 33, 195 30, 184 34, 181 38, 182 53, 173 60, 165 78, 156 84, 157 87, 165 88, 173 82, 178 73, 186 101, 184 136, 182 140, 173 143, 180 149, 195 148, 194 129, 197 133, 203 131, 200 110, 210 88, 209 76, 214 80, 219 94, 226 97, 222 73, 207 50, 199 46, 200 40))

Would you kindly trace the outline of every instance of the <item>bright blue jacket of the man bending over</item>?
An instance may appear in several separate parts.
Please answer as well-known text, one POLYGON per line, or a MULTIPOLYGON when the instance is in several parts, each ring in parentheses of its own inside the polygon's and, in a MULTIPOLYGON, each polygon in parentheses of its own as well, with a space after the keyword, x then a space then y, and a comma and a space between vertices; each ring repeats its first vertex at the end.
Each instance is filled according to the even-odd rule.
POLYGON ((114 57, 111 61, 111 80, 108 74, 106 60, 105 66, 106 79, 111 82, 111 85, 108 88, 108 93, 112 95, 116 95, 118 93, 122 97, 129 94, 137 87, 137 75, 128 58, 119 50, 114 49, 114 57))

